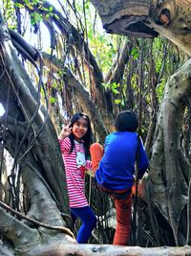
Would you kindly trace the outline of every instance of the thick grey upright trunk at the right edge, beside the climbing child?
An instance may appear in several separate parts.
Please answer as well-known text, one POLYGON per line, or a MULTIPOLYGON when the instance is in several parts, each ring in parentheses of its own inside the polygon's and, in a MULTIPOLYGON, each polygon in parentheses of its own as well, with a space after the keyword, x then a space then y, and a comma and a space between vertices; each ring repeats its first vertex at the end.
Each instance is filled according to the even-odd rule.
POLYGON ((184 175, 186 161, 182 159, 185 156, 180 154, 180 128, 183 111, 191 95, 190 82, 191 60, 166 84, 151 158, 150 178, 155 185, 152 186, 152 201, 170 221, 176 244, 185 244, 186 239, 185 230, 182 233, 180 228, 186 227, 186 211, 183 209, 188 199, 188 180, 184 175))

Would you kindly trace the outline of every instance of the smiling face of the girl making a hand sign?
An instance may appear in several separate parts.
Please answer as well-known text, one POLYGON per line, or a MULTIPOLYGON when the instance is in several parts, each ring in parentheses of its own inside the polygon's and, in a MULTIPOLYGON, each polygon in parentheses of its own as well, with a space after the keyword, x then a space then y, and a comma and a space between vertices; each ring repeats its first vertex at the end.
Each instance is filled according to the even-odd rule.
POLYGON ((79 118, 73 125, 73 134, 77 141, 81 141, 81 138, 86 134, 88 130, 88 122, 84 118, 79 118))

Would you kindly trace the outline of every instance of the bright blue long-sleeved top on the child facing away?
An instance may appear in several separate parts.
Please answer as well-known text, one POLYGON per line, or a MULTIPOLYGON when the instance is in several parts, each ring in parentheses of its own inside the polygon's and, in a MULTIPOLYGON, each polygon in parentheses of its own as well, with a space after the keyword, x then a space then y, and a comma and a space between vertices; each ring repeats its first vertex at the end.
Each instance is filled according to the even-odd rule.
MULTIPOLYGON (((138 151, 138 133, 116 131, 105 139, 104 155, 96 170, 96 182, 111 190, 129 189, 133 185, 138 151)), ((149 166, 147 154, 139 140, 138 178, 149 166)))

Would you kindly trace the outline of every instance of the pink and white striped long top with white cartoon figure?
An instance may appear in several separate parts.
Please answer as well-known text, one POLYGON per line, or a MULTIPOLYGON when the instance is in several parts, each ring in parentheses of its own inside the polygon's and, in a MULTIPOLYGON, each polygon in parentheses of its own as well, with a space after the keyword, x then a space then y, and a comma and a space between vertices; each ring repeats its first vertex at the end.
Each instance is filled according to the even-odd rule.
POLYGON ((85 197, 85 171, 92 169, 92 162, 85 160, 85 151, 82 143, 74 141, 74 150, 71 151, 71 141, 68 137, 59 140, 66 171, 66 182, 69 194, 70 207, 84 207, 88 205, 85 197))

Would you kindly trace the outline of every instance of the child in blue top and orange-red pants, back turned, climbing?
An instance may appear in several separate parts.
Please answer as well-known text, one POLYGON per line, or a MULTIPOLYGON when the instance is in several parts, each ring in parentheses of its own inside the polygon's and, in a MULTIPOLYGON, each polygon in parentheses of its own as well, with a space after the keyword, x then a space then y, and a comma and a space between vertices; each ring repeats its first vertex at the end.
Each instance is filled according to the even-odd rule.
POLYGON ((117 229, 113 244, 126 245, 131 230, 132 186, 138 153, 138 179, 149 166, 147 154, 138 137, 138 117, 134 112, 121 111, 115 123, 116 131, 105 139, 104 150, 91 146, 96 185, 115 199, 117 229))

